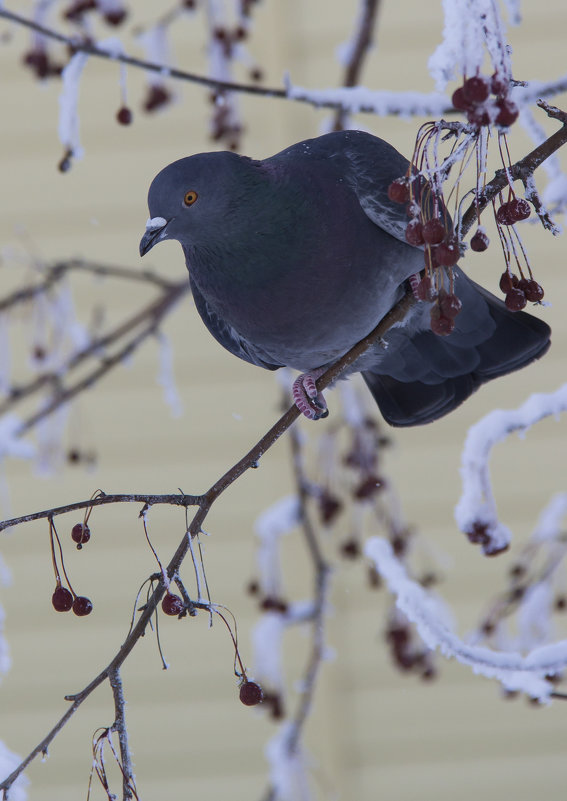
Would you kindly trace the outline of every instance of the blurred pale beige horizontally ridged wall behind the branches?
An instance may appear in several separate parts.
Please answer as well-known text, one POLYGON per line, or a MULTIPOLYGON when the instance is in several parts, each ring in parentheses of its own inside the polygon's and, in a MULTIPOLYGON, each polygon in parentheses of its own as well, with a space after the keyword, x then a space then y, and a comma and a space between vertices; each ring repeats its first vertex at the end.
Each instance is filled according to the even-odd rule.
MULTIPOLYGON (((27 14, 32 4, 7 5, 27 14)), ((168 2, 149 0, 131 6, 137 24, 152 24, 170 9, 168 2)), ((432 91, 427 60, 441 41, 441 3, 383 0, 381 6, 375 47, 362 83, 372 89, 432 91)), ((357 8, 355 0, 259 3, 248 47, 265 84, 280 86, 287 70, 301 86, 340 85, 337 48, 351 36, 357 8)), ((515 77, 541 81, 558 77, 565 70, 565 4, 526 3, 522 13, 522 25, 510 30, 515 77)), ((184 20, 173 33, 175 63, 196 73, 207 69, 202 17, 201 13, 184 20)), ((58 27, 61 20, 55 17, 52 22, 58 27)), ((116 35, 130 32, 133 24, 134 20, 128 21, 116 35)), ((90 59, 79 101, 85 157, 67 173, 59 172, 60 85, 57 81, 42 85, 23 68, 21 58, 29 39, 28 31, 0 20, 2 294, 25 280, 30 260, 76 256, 141 268, 138 243, 153 176, 177 158, 215 148, 208 135, 207 89, 170 82, 175 102, 161 113, 146 115, 139 110, 145 76, 128 69, 128 102, 134 119, 130 126, 121 126, 115 120, 122 102, 119 68, 110 61, 90 59)), ((235 77, 247 80, 246 71, 235 77)), ((240 152, 258 158, 318 135, 328 129, 331 119, 328 111, 289 101, 242 96, 238 102, 246 126, 240 152)), ((552 102, 565 108, 565 98, 552 102)), ((359 115, 352 125, 387 139, 409 156, 423 121, 359 115)), ((554 130, 554 124, 541 121, 546 130, 554 130)), ((510 141, 512 159, 532 147, 519 125, 510 141)), ((394 444, 385 454, 384 472, 399 493, 408 523, 441 554, 445 581, 439 591, 452 605, 461 634, 478 622, 502 586, 514 550, 525 541, 544 505, 553 493, 565 490, 565 424, 550 419, 524 439, 513 437, 494 454, 499 512, 516 536, 511 554, 482 558, 453 520, 460 492, 460 451, 469 426, 495 407, 515 407, 531 392, 552 391, 564 380, 565 240, 537 225, 526 230, 524 240, 536 278, 552 304, 537 312, 553 327, 550 353, 529 370, 483 388, 432 426, 387 432, 394 444)), ((496 243, 489 254, 470 254, 464 267, 496 292, 503 269, 496 243)), ((171 280, 185 275, 181 251, 173 242, 152 251, 143 266, 171 280)), ((150 296, 146 288, 131 282, 93 282, 89 277, 73 282, 74 301, 86 316, 104 304, 109 319, 120 319, 142 302, 144 292, 150 296)), ((25 320, 19 330, 21 338, 11 343, 16 373, 29 360, 33 344, 25 320)), ((268 429, 280 408, 280 389, 272 374, 220 348, 189 298, 170 315, 164 333, 173 352, 182 415, 171 414, 164 402, 158 380, 160 347, 151 340, 124 367, 83 395, 71 411, 66 447, 96 453, 95 463, 62 463, 53 475, 42 476, 27 461, 7 460, 2 517, 85 499, 99 487, 106 492, 140 493, 175 492, 181 487, 198 493, 268 429)), ((332 416, 337 403, 333 392, 327 399, 332 416)), ((325 425, 317 424, 317 430, 325 425)), ((315 436, 309 425, 303 430, 306 436, 315 436)), ((209 585, 213 598, 237 618, 241 652, 248 664, 250 631, 258 619, 255 600, 246 593, 256 573, 254 523, 293 488, 289 443, 283 439, 262 459, 259 470, 226 492, 207 520, 209 585)), ((53 576, 45 521, 2 535, 3 558, 12 575, 10 586, 1 589, 12 669, 0 687, 0 737, 13 751, 26 754, 64 711, 63 696, 85 686, 122 642, 137 588, 155 570, 138 511, 126 505, 96 509, 90 520, 91 542, 81 552, 68 539, 81 516, 57 520, 67 543, 66 564, 73 583, 94 603, 88 618, 57 615, 51 607, 53 576)), ((151 511, 149 530, 163 561, 175 550, 183 527, 180 510, 151 511)), ((333 555, 337 569, 327 641, 334 658, 323 667, 306 729, 316 797, 563 798, 567 708, 561 702, 537 708, 523 699, 504 701, 495 683, 441 660, 434 682, 401 675, 390 664, 383 640, 389 603, 385 590, 369 590, 360 562, 341 561, 336 550, 333 555)), ((308 596, 310 566, 305 564, 297 533, 285 539, 283 559, 288 596, 308 596)), ((191 587, 189 566, 185 575, 191 587)), ((149 632, 124 668, 141 797, 190 795, 213 801, 230 795, 233 801, 260 801, 268 786, 264 747, 277 724, 239 703, 226 631, 220 624, 209 629, 208 619, 201 615, 183 622, 162 619, 160 633, 170 665, 167 672, 149 632)), ((308 643, 300 631, 286 635, 290 705, 308 643)), ((92 733, 109 725, 112 716, 110 693, 102 687, 57 737, 49 759, 30 768, 29 797, 42 801, 84 797, 92 733)), ((99 787, 92 797, 103 797, 99 787)))

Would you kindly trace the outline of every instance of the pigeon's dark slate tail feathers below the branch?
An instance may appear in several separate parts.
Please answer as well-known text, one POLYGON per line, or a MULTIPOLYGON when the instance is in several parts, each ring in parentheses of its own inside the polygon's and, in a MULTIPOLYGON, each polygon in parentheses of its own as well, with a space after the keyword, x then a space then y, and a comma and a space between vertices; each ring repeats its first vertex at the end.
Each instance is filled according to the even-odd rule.
POLYGON ((525 367, 543 356, 549 348, 551 330, 546 323, 531 314, 511 312, 498 298, 481 287, 476 288, 487 303, 495 327, 487 339, 473 346, 474 353, 468 354, 474 356, 476 362, 470 372, 461 375, 436 374, 441 364, 440 346, 447 351, 447 358, 442 360, 444 365, 459 359, 465 364, 467 349, 458 337, 454 340, 452 336, 438 337, 431 331, 417 332, 408 340, 412 349, 417 345, 425 362, 429 349, 425 340, 430 340, 433 358, 431 364, 423 365, 429 368, 425 370, 426 381, 404 381, 403 370, 395 378, 363 372, 382 416, 390 425, 431 423, 456 409, 482 384, 525 367))

